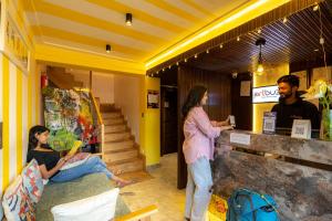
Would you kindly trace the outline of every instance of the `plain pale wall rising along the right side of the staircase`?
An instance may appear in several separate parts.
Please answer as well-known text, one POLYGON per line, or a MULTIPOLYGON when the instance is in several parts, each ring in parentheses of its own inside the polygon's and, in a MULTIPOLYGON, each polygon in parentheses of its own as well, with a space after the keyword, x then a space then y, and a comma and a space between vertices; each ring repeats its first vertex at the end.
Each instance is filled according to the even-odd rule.
POLYGON ((122 109, 135 141, 139 144, 139 78, 114 75, 114 102, 122 109))

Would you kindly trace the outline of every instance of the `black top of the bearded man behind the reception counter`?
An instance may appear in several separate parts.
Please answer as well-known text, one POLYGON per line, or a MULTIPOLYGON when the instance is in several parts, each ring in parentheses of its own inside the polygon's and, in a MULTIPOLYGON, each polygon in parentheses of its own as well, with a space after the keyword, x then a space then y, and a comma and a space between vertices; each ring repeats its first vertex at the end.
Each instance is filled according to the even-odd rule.
POLYGON ((279 103, 273 106, 271 112, 277 112, 277 127, 291 128, 294 119, 310 119, 311 128, 320 128, 320 116, 318 108, 310 102, 298 101, 287 105, 279 103))

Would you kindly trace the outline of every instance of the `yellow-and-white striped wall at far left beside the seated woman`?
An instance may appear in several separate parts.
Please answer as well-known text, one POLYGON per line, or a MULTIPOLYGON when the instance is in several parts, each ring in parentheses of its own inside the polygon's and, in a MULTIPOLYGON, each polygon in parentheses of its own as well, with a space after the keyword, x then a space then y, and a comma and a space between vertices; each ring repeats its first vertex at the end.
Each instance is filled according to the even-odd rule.
MULTIPOLYGON (((19 30, 24 27, 21 1, 7 1, 19 30)), ((25 30, 27 31, 27 30, 25 30)), ((29 128, 40 123, 40 75, 35 73, 35 60, 30 36, 23 36, 31 50, 30 71, 23 73, 6 54, 0 52, 0 122, 2 126, 2 149, 0 149, 0 194, 21 172, 25 164, 29 128)))

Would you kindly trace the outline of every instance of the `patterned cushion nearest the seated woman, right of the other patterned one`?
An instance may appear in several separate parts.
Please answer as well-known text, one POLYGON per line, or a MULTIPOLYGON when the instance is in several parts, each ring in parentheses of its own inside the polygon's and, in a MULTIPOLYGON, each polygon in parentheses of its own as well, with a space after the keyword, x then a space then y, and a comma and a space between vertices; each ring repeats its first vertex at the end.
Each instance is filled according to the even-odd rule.
POLYGON ((32 202, 39 202, 44 183, 35 159, 32 159, 22 170, 23 186, 32 202))

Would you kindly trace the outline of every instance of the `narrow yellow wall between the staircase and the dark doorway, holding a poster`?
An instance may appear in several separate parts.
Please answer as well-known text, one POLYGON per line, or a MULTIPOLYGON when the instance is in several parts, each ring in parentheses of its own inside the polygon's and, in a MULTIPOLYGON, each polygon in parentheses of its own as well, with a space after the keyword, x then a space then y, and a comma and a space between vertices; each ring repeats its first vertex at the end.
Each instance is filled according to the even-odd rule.
POLYGON ((159 164, 160 159, 160 108, 147 108, 147 90, 160 93, 160 80, 141 78, 141 151, 146 157, 146 166, 151 166, 159 164))

